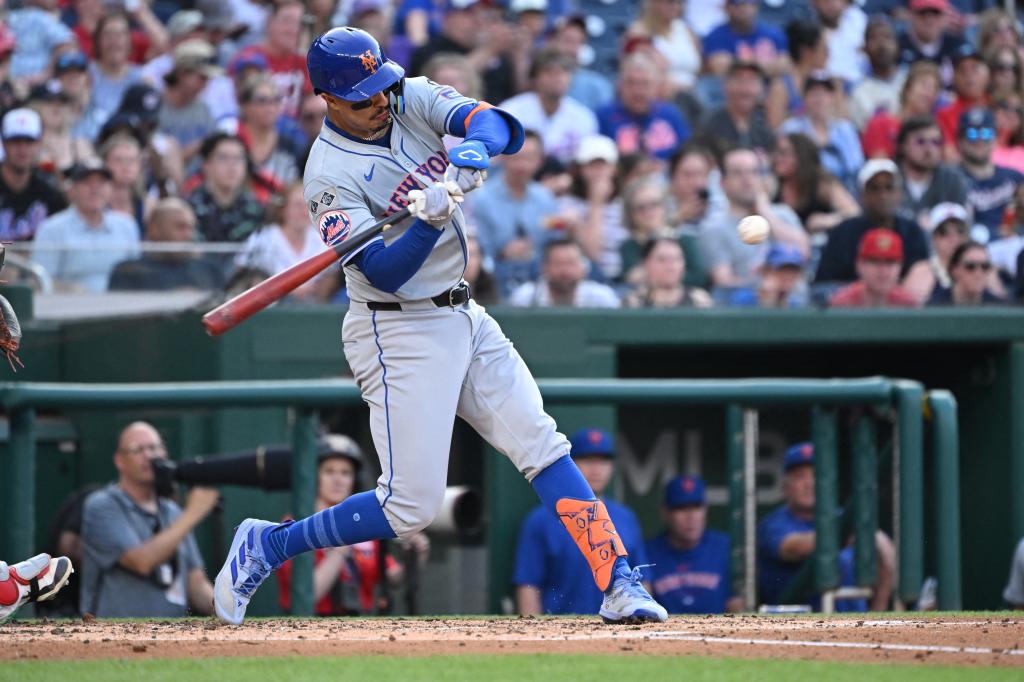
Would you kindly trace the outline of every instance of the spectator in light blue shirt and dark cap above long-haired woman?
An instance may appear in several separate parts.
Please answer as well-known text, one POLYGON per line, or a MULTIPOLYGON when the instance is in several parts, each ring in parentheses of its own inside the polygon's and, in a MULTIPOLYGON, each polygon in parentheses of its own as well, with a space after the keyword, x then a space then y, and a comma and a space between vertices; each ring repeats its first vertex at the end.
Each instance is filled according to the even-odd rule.
POLYGON ((810 74, 804 81, 804 116, 786 120, 779 132, 807 135, 818 147, 821 165, 852 191, 864 153, 857 129, 837 115, 836 88, 828 74, 810 74))

